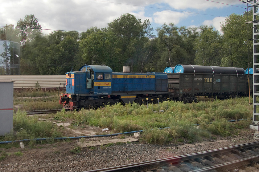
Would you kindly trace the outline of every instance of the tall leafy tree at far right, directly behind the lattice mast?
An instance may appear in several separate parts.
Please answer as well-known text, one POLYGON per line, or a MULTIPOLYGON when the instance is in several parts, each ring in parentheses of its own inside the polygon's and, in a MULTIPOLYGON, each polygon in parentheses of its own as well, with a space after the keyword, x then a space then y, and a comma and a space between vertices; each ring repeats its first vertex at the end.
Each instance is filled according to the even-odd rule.
POLYGON ((252 10, 242 15, 231 14, 221 25, 224 33, 223 66, 247 68, 248 63, 253 62, 252 55, 248 57, 252 54, 253 43, 247 41, 252 38, 252 23, 245 24, 247 20, 252 21, 252 14, 252 10))

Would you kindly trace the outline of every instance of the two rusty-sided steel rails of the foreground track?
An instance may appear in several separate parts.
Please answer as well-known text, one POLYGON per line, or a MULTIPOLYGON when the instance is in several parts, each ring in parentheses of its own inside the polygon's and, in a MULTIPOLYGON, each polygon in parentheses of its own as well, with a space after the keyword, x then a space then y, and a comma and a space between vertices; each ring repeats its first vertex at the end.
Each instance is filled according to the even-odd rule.
POLYGON ((90 171, 85 171, 85 172, 112 172, 112 171, 113 172, 136 172, 136 171, 144 172, 144 171, 148 171, 148 170, 151 171, 151 170, 157 169, 161 166, 166 166, 168 164, 177 164, 179 162, 188 161, 191 159, 208 157, 208 156, 217 155, 217 154, 224 154, 224 153, 233 152, 233 151, 236 153, 241 153, 241 154, 249 156, 247 158, 235 160, 232 162, 225 162, 224 164, 217 164, 215 166, 200 168, 197 170, 196 169, 191 170, 191 172, 211 171, 214 169, 233 166, 235 164, 240 165, 241 162, 251 161, 254 159, 256 159, 256 162, 258 162, 259 161, 259 152, 257 152, 258 155, 253 155, 253 154, 249 154, 246 152, 238 151, 238 150, 248 149, 251 147, 259 147, 259 142, 240 144, 240 145, 236 145, 236 146, 225 147, 225 148, 220 148, 220 149, 215 149, 215 150, 210 150, 210 151, 203 151, 203 152, 198 152, 198 153, 193 153, 193 154, 181 155, 181 156, 170 157, 170 158, 163 158, 163 159, 152 160, 152 161, 147 161, 147 162, 139 162, 139 163, 123 165, 123 166, 109 167, 109 168, 104 168, 104 169, 90 170, 90 171))

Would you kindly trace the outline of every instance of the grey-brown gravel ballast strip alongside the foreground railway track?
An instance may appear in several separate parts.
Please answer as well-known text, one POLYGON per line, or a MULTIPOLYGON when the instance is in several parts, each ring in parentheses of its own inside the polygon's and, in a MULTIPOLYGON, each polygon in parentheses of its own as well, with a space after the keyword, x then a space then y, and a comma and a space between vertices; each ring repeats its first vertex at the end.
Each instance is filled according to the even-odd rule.
POLYGON ((247 130, 243 136, 214 137, 213 140, 193 144, 179 143, 159 146, 135 142, 110 147, 84 147, 80 153, 71 152, 78 147, 76 142, 79 140, 34 145, 33 148, 26 145, 24 149, 20 147, 0 148, 0 153, 5 155, 0 159, 0 171, 81 172, 108 168, 258 141, 253 138, 253 133, 254 131, 247 130), (21 152, 22 155, 17 152, 21 152))

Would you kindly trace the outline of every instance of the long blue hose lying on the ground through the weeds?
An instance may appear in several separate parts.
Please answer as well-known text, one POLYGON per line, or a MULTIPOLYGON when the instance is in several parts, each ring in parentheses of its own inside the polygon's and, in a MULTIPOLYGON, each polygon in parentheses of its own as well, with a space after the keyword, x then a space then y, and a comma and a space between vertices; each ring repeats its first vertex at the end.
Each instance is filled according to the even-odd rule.
MULTIPOLYGON (((246 119, 230 120, 228 122, 236 122, 236 121, 241 121, 241 120, 246 120, 246 119)), ((200 124, 194 124, 194 125, 200 125, 200 124)), ((165 129, 165 128, 170 128, 170 127, 164 127, 164 128, 159 128, 159 129, 162 130, 162 129, 165 129)), ((131 133, 138 133, 138 132, 143 132, 143 130, 130 131, 130 132, 124 132, 124 133, 116 133, 116 134, 110 134, 110 135, 87 135, 87 136, 78 136, 78 137, 55 137, 55 138, 39 138, 39 139, 23 139, 23 140, 13 140, 13 141, 2 141, 2 142, 0 142, 0 144, 25 142, 25 141, 31 141, 31 140, 48 140, 48 139, 62 140, 62 139, 81 139, 81 138, 91 138, 91 137, 109 137, 109 136, 115 136, 115 135, 120 135, 120 134, 131 134, 131 133)))

